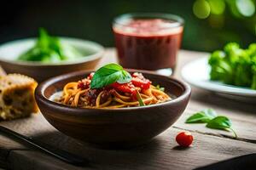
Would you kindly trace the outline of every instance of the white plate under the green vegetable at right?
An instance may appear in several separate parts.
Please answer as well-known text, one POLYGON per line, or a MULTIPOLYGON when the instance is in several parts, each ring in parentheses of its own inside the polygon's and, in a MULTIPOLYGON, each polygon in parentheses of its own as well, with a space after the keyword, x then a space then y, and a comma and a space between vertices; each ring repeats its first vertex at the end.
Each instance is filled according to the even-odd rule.
POLYGON ((197 88, 203 88, 221 94, 231 94, 237 97, 256 97, 256 90, 227 85, 210 80, 208 58, 196 59, 183 66, 182 77, 186 82, 197 88))

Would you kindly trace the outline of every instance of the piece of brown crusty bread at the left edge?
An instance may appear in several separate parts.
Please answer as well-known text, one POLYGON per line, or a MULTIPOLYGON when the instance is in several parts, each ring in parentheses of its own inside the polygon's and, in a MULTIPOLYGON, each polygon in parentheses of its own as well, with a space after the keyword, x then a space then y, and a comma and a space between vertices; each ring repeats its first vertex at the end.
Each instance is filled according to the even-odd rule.
POLYGON ((37 85, 31 77, 20 74, 0 77, 0 120, 12 120, 38 112, 34 99, 37 85))

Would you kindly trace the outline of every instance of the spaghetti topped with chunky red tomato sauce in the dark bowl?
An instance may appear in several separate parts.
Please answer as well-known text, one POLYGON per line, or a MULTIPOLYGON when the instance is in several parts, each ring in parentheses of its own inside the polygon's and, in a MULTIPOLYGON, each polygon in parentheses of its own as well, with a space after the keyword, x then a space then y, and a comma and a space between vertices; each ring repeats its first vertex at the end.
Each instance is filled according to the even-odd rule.
POLYGON ((131 82, 113 82, 103 88, 90 88, 94 73, 79 82, 68 82, 58 102, 80 108, 123 108, 154 105, 170 100, 170 96, 155 87, 141 73, 133 73, 131 82))

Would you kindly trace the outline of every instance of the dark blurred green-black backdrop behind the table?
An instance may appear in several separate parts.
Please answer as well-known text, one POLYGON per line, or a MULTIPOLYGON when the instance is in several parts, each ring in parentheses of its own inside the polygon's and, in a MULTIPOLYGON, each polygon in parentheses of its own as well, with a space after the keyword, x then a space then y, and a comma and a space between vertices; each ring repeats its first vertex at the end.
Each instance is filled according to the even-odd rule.
POLYGON ((254 42, 255 15, 237 15, 231 8, 236 0, 220 1, 225 3, 224 12, 210 14, 206 19, 199 19, 193 13, 194 0, 1 1, 0 43, 35 37, 38 28, 44 27, 51 35, 79 37, 113 47, 113 18, 132 12, 182 16, 185 20, 182 48, 185 49, 212 51, 230 41, 240 42, 242 47, 254 42))

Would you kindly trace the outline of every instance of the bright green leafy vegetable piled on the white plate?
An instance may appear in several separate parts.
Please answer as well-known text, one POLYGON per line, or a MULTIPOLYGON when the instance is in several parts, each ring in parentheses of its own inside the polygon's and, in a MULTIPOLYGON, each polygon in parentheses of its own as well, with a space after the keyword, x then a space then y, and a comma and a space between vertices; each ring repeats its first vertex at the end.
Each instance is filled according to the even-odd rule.
POLYGON ((226 84, 256 89, 256 43, 242 49, 236 42, 217 50, 208 60, 210 78, 226 84))

